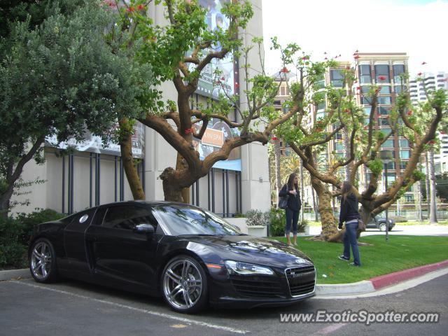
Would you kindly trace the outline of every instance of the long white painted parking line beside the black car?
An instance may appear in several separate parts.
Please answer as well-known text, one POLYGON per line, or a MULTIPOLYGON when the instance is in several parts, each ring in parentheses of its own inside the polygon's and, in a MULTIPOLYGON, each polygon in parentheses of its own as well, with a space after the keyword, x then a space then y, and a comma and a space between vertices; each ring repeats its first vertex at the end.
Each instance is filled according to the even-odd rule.
POLYGON ((100 303, 104 303, 104 304, 110 304, 110 305, 115 306, 115 307, 130 309, 130 310, 133 310, 133 311, 139 311, 139 312, 144 313, 144 314, 150 314, 150 315, 154 315, 154 316, 171 318, 172 320, 175 320, 175 321, 181 321, 183 323, 200 325, 202 327, 214 328, 214 329, 219 329, 219 330, 225 330, 225 331, 229 331, 229 332, 235 332, 236 334, 246 334, 247 332, 249 332, 248 330, 239 330, 239 329, 235 329, 235 328, 226 327, 225 325, 216 325, 216 324, 211 324, 211 323, 202 322, 202 321, 195 321, 195 320, 192 320, 190 318, 183 318, 183 317, 174 316, 174 315, 170 315, 170 314, 160 313, 158 311, 152 311, 152 310, 148 310, 148 309, 135 308, 135 307, 127 306, 125 304, 120 304, 120 303, 111 302, 111 301, 107 301, 107 300, 94 299, 92 297, 88 297, 88 296, 85 296, 85 295, 79 295, 79 294, 75 294, 75 293, 70 293, 70 292, 67 292, 66 290, 59 290, 59 289, 55 289, 55 288, 48 288, 48 287, 38 286, 38 285, 31 284, 31 283, 25 283, 25 282, 22 282, 22 281, 15 281, 15 280, 13 280, 13 281, 10 281, 10 282, 18 283, 20 285, 25 285, 25 286, 29 286, 29 287, 33 287, 33 288, 50 290, 51 292, 55 292, 55 293, 71 295, 71 296, 74 296, 74 297, 79 297, 80 299, 90 300, 90 301, 94 301, 94 302, 100 302, 100 303))

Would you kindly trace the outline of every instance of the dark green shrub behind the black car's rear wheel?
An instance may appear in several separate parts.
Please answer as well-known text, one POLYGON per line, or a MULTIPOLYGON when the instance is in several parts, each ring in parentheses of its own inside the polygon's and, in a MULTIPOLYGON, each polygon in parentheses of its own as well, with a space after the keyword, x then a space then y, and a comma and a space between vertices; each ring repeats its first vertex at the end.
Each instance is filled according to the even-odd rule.
POLYGON ((22 268, 27 265, 29 239, 36 225, 64 217, 50 209, 36 209, 17 218, 0 217, 0 268, 22 268))

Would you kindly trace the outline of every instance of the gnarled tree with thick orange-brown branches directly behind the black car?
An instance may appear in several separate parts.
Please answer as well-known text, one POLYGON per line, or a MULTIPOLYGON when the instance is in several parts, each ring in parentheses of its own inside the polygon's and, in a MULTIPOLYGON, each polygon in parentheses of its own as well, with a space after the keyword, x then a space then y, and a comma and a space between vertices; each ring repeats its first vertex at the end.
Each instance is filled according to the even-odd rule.
MULTIPOLYGON (((139 122, 158 132, 178 153, 176 167, 167 167, 160 175, 165 200, 188 202, 183 190, 209 173, 211 167, 219 160, 226 160, 234 148, 258 141, 267 144, 271 132, 299 109, 291 106, 288 113, 275 111, 273 99, 279 90, 280 81, 267 76, 264 70, 256 73, 248 62, 253 46, 242 44, 238 36, 239 29, 244 29, 253 11, 248 1, 228 1, 223 5, 230 25, 227 29, 210 31, 206 25, 206 10, 198 6, 197 1, 165 1, 167 26, 155 27, 152 22, 141 18, 132 11, 133 22, 137 22, 136 36, 151 31, 151 38, 141 49, 141 62, 148 62, 153 69, 160 69, 163 80, 174 84, 177 93, 176 102, 167 102, 165 111, 148 111, 139 122), (217 46, 219 48, 217 48, 217 46), (191 52, 186 53, 188 50, 191 52), (224 59, 229 52, 239 56, 245 85, 243 94, 230 95, 223 80, 223 73, 215 73, 216 87, 221 87, 220 97, 209 100, 208 107, 199 104, 193 109, 190 98, 196 92, 202 72, 211 62, 224 59), (175 57, 173 57, 175 55, 175 57), (246 107, 241 108, 239 99, 244 99, 246 107), (229 117, 237 113, 237 120, 229 117), (193 145, 194 139, 202 139, 209 121, 215 118, 228 125, 230 129, 239 130, 239 135, 228 139, 219 151, 200 159, 193 145), (169 123, 169 122, 170 123, 169 123)), ((254 45, 261 52, 262 39, 254 38, 254 45)), ((278 45, 274 48, 279 49, 278 45)), ((279 76, 288 72, 288 52, 296 45, 289 45, 283 51, 283 69, 279 76)), ((236 86, 239 86, 237 83, 236 86)), ((134 167, 135 169, 135 167, 134 167)), ((134 181, 136 182, 136 181, 134 181)), ((140 188, 140 183, 131 184, 132 190, 140 188)), ((134 193, 135 197, 136 193, 134 193)))

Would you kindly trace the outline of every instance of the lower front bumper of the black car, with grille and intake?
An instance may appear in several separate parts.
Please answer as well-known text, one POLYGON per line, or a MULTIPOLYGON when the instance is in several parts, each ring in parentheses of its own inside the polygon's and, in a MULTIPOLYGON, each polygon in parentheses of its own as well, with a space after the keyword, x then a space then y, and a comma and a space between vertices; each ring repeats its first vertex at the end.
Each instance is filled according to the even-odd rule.
POLYGON ((274 269, 274 273, 273 276, 230 276, 224 269, 210 274, 210 304, 242 309, 277 307, 316 295, 314 265, 274 269))

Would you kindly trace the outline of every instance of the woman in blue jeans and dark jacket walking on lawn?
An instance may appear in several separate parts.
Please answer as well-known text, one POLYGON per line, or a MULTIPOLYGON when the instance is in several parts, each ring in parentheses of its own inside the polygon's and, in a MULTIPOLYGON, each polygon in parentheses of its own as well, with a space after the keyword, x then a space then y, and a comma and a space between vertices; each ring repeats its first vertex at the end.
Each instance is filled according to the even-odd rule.
POLYGON ((342 185, 341 211, 339 213, 339 230, 342 229, 342 223, 345 222, 344 233, 344 254, 339 256, 341 260, 350 260, 350 246, 353 252, 353 262, 351 266, 360 266, 358 241, 356 241, 356 230, 358 229, 358 200, 351 193, 352 185, 349 181, 344 181, 342 185))

